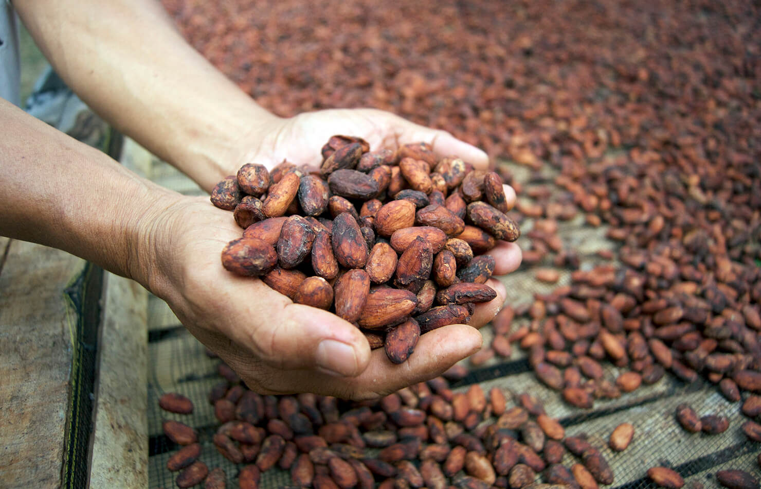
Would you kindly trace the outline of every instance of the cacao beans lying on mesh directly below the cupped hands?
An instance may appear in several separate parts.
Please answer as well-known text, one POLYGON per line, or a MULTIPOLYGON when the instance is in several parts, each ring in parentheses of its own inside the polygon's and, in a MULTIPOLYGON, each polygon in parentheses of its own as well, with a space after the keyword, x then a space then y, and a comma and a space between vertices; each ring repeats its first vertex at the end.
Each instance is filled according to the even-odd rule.
MULTIPOLYGON (((457 377, 462 372, 449 372, 457 377)), ((447 379, 403 388, 380 401, 342 406, 336 398, 301 394, 258 395, 220 365, 225 380, 209 392, 220 425, 214 449, 234 464, 241 489, 259 487, 272 468, 288 471, 287 487, 597 487, 614 476, 599 446, 583 434, 565 436, 533 395, 511 395, 480 385, 453 392, 447 379), (566 452, 575 462, 566 467, 566 452)), ((159 399, 164 411, 192 414, 193 402, 177 393, 159 399)), ((221 468, 202 461, 199 433, 186 423, 164 421, 180 446, 167 460, 178 487, 225 487, 221 468)), ((623 423, 609 445, 625 450, 634 428, 623 423)), ((567 458, 566 458, 567 460, 567 458)), ((284 487, 280 485, 279 487, 284 487)))

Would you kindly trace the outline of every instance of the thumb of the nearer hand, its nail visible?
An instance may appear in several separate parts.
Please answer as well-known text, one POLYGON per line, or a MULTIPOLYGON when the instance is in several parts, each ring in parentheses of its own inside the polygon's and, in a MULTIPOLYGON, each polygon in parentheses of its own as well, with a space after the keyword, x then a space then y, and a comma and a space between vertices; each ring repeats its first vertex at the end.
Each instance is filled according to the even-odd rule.
POLYGON ((282 302, 250 332, 251 349, 275 369, 318 369, 358 376, 370 361, 370 346, 354 324, 308 305, 282 302))

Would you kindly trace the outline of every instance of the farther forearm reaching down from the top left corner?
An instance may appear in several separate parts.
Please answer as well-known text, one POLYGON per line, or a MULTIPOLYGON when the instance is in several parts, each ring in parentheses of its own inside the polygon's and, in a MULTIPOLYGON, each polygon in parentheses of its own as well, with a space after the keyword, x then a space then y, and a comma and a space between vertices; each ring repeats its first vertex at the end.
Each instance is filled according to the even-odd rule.
POLYGON ((158 0, 16 0, 56 72, 97 113, 210 190, 277 117, 218 72, 158 0))

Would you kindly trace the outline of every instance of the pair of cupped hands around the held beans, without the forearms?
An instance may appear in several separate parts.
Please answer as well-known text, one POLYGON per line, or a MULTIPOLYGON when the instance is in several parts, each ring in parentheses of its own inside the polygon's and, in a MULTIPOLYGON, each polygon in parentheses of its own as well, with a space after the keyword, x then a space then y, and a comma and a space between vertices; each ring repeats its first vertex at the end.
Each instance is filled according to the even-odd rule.
MULTIPOLYGON (((321 110, 278 120, 260 136, 248 138, 229 174, 246 162, 273 168, 284 159, 317 169, 320 149, 336 134, 359 136, 373 150, 428 142, 439 157, 457 155, 476 168, 489 163, 484 152, 449 133, 382 110, 321 110)), ((514 190, 505 186, 505 193, 512 206, 514 190)), ((186 328, 256 392, 313 392, 355 400, 387 395, 438 376, 479 350, 477 328, 491 321, 505 302, 505 287, 489 280, 497 297, 478 305, 468 325, 451 324, 423 334, 409 359, 395 365, 383 349, 371 351, 353 324, 295 304, 259 279, 224 270, 222 248, 242 234, 232 213, 216 209, 206 198, 184 198, 171 208, 165 213, 167 224, 154 232, 159 236, 158 263, 164 264, 167 277, 161 296, 186 328)), ((495 274, 515 270, 521 262, 514 243, 501 242, 489 254, 495 257, 495 274)))

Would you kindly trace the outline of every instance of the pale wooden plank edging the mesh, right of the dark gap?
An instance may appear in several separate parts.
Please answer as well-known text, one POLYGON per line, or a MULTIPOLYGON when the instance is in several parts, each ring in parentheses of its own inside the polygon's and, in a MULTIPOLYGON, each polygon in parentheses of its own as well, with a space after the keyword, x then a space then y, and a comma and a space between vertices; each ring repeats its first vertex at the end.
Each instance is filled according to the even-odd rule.
POLYGON ((90 487, 147 487, 148 291, 107 273, 90 487))

